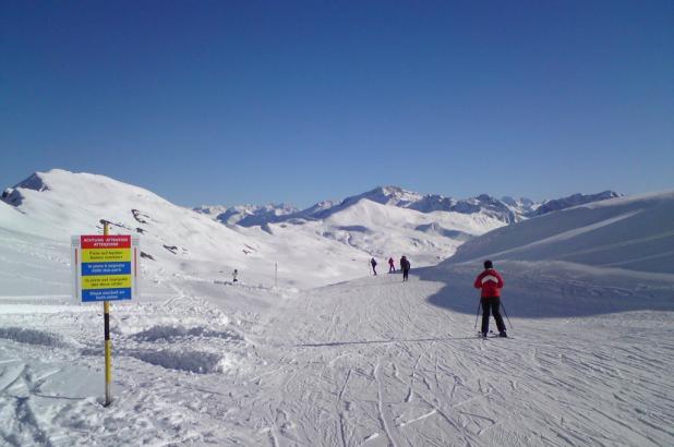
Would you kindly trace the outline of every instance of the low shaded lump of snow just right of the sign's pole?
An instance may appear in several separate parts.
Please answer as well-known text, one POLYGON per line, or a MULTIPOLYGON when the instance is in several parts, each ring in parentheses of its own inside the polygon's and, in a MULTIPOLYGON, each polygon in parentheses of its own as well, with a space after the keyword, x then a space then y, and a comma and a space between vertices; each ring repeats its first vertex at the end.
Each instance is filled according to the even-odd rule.
POLYGON ((128 355, 167 370, 185 371, 195 374, 221 373, 231 363, 226 357, 202 351, 131 351, 128 355))

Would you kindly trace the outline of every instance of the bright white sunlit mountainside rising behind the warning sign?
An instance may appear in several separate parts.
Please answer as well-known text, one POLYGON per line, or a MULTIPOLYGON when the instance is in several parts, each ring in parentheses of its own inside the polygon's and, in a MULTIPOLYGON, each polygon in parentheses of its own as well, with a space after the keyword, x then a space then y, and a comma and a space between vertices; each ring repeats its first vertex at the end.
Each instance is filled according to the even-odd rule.
POLYGON ((281 281, 305 287, 334 279, 334 267, 322 268, 308 257, 335 254, 333 264, 346 274, 340 279, 362 275, 369 258, 330 240, 303 243, 303 235, 272 237, 260 228, 238 232, 147 190, 105 176, 58 169, 39 172, 3 200, 0 230, 13 234, 8 235, 7 244, 24 240, 20 234, 25 231, 32 232, 58 247, 59 262, 69 259, 71 235, 101 232, 100 219, 111 222, 113 234, 137 234, 146 255, 143 268, 163 277, 197 274, 227 280, 238 268, 242 280, 268 286, 275 280, 278 263, 279 270, 289 274, 281 275, 281 281), (294 247, 301 252, 294 252, 294 247))

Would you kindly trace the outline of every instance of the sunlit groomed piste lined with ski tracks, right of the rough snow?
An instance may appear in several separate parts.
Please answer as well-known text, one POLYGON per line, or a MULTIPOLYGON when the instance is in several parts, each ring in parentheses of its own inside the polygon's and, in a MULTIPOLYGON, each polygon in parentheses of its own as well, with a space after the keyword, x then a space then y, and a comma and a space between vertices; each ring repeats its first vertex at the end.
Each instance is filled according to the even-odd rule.
POLYGON ((443 286, 381 275, 289 302, 254 340, 267 365, 237 403, 255 442, 674 443, 671 313, 517 318, 517 339, 480 340, 474 315, 428 303, 443 286))

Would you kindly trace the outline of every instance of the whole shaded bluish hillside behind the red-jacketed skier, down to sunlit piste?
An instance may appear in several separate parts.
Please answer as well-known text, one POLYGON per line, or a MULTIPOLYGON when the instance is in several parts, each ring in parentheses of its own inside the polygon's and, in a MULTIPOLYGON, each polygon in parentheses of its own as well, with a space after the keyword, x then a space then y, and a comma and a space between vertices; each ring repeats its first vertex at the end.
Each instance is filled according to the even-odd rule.
MULTIPOLYGON (((674 192, 617 197, 503 227, 461 245, 424 277, 456 278, 461 295, 490 258, 516 316, 559 317, 670 309, 674 192)), ((461 301, 442 305, 474 312, 461 301)))

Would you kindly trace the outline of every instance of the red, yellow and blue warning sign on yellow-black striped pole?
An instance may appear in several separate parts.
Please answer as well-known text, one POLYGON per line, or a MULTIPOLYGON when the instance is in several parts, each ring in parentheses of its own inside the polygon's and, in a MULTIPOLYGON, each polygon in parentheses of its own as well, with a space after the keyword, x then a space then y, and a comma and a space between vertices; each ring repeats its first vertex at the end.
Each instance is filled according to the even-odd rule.
POLYGON ((108 233, 108 221, 103 224, 103 235, 73 238, 75 297, 82 303, 103 301, 106 400, 112 401, 112 343, 110 341, 110 301, 131 300, 136 291, 139 240, 129 234, 108 233))

